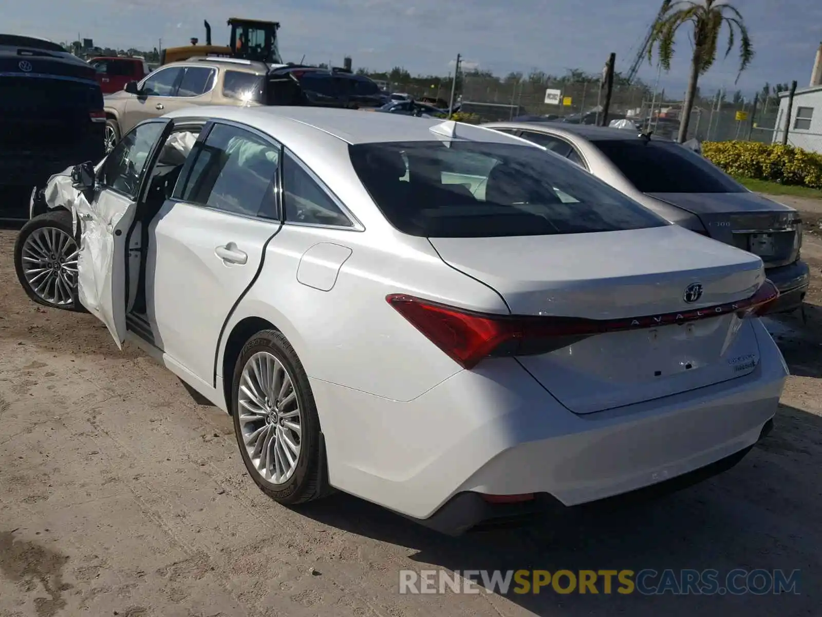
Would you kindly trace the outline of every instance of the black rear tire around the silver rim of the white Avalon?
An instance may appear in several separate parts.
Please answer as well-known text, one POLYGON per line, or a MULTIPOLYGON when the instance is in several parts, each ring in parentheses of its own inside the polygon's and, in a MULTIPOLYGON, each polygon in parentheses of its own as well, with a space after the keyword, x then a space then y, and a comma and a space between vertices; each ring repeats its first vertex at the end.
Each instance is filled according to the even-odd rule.
POLYGON ((240 449, 242 462, 254 483, 271 499, 283 505, 297 505, 324 497, 330 493, 327 481, 325 448, 323 448, 320 419, 316 414, 316 404, 311 385, 302 363, 288 339, 281 332, 263 330, 257 332, 242 347, 237 363, 234 366, 231 386, 231 412, 234 423, 234 435, 240 449), (240 411, 238 404, 242 370, 253 355, 266 351, 273 355, 289 373, 297 396, 301 412, 301 440, 297 467, 293 475, 282 484, 269 482, 261 476, 254 466, 242 438, 240 411))

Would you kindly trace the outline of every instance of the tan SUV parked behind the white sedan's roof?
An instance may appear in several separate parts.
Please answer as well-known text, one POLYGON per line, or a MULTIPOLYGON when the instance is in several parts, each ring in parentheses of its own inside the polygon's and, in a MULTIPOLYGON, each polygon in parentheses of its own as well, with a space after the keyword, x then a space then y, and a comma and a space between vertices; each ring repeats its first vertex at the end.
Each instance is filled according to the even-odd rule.
POLYGON ((258 105, 269 67, 234 58, 192 58, 159 67, 104 97, 105 151, 137 123, 192 105, 258 105))

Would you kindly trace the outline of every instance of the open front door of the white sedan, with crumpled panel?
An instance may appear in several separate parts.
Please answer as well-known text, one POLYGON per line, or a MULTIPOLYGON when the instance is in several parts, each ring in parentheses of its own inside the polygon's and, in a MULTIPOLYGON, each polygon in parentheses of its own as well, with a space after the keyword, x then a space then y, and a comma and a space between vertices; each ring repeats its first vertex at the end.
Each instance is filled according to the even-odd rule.
POLYGON ((78 199, 81 222, 77 296, 122 349, 126 340, 127 238, 146 179, 173 129, 170 118, 138 124, 114 146, 97 173, 94 196, 78 199))

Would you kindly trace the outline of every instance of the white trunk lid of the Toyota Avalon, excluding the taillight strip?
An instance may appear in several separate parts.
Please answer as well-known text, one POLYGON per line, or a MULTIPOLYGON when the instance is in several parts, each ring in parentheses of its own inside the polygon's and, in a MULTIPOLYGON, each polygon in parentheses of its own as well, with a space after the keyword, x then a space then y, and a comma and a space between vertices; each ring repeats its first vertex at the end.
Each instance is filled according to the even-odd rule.
MULTIPOLYGON (((491 286, 518 315, 653 323, 655 315, 746 299, 764 281, 759 257, 677 225, 430 241, 445 262, 491 286), (688 302, 693 284, 702 293, 688 302)), ((759 348, 750 324, 723 312, 607 332, 518 360, 570 411, 584 414, 740 377, 755 369, 759 348)))

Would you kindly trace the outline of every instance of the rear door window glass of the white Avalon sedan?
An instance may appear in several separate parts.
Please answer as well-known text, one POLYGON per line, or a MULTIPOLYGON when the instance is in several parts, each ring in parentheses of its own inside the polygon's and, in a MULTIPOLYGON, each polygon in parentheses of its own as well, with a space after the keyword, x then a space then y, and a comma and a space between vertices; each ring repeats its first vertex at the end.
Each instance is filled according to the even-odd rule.
POLYGON ((215 124, 205 142, 195 146, 194 156, 186 181, 175 190, 178 198, 233 214, 276 218, 279 146, 242 128, 215 124))

